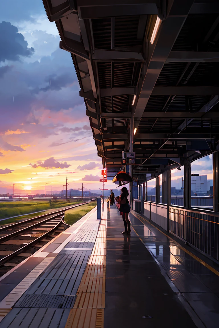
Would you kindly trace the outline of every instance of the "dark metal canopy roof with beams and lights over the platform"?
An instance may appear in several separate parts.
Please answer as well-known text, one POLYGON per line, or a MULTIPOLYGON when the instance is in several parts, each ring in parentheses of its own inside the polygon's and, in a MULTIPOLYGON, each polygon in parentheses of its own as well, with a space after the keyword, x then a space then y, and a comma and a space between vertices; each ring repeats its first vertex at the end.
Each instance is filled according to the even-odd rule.
POLYGON ((122 167, 134 117, 133 176, 216 151, 218 0, 43 0, 69 51, 98 155, 122 167))

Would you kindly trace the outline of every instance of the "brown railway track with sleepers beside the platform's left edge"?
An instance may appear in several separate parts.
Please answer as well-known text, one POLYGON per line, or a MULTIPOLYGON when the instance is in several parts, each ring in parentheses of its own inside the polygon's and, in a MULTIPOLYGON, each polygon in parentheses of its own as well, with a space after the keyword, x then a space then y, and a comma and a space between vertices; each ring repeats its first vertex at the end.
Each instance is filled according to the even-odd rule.
MULTIPOLYGON (((81 205, 77 204, 67 209, 81 205)), ((0 228, 0 277, 63 231, 61 219, 65 210, 0 228)))

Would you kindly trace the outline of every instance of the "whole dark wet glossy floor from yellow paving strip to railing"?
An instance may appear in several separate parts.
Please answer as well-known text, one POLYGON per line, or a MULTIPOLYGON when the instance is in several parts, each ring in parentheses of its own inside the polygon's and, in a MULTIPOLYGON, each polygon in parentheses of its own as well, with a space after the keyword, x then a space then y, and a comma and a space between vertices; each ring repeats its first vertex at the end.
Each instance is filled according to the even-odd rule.
POLYGON ((104 328, 219 326, 219 277, 156 228, 129 215, 122 235, 116 207, 107 217, 104 328))

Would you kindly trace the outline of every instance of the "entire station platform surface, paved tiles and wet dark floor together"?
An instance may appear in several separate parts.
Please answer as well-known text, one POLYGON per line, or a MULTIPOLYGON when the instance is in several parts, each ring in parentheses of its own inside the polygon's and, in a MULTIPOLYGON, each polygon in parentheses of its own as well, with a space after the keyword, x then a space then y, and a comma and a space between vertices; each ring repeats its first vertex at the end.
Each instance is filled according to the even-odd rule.
POLYGON ((218 327, 219 277, 132 212, 96 208, 0 278, 0 328, 218 327))

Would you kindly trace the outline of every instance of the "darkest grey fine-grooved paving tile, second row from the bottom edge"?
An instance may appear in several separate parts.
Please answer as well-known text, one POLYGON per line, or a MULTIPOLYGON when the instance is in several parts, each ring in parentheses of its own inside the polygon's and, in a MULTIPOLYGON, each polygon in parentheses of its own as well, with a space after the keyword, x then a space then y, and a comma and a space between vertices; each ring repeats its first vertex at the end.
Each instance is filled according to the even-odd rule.
POLYGON ((76 296, 57 295, 22 295, 14 307, 37 307, 54 309, 71 309, 76 296))

